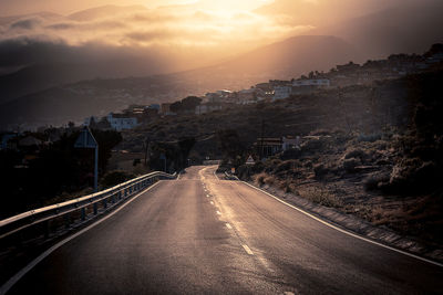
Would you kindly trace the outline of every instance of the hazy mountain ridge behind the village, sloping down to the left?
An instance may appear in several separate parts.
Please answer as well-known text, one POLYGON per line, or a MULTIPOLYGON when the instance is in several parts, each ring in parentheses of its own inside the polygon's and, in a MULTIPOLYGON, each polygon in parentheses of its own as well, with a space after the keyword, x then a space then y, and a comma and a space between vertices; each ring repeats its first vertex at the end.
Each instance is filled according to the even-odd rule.
MULTIPOLYGON (((219 88, 248 88, 270 78, 327 71, 358 56, 351 45, 338 38, 296 36, 215 66, 144 78, 89 81, 38 92, 1 105, 0 125, 79 122, 86 116, 121 110, 128 104, 177 101, 186 95, 203 95, 219 88), (132 94, 126 95, 128 93, 132 94), (171 97, 172 93, 176 97, 171 97)), ((80 69, 70 72, 82 73, 80 69)), ((29 81, 33 78, 30 76, 29 81)))

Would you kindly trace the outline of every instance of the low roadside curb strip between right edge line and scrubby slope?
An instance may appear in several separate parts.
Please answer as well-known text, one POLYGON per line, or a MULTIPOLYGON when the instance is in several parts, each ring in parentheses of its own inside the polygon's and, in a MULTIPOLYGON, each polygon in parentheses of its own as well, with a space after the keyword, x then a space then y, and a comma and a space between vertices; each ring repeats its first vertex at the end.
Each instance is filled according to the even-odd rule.
POLYGON ((364 221, 358 217, 346 214, 337 209, 327 208, 321 204, 316 204, 309 200, 297 197, 292 193, 285 193, 278 189, 269 186, 257 187, 255 183, 249 181, 241 181, 249 185, 258 190, 262 190, 272 197, 298 207, 302 211, 315 215, 316 218, 323 220, 326 223, 330 223, 333 226, 340 228, 352 234, 357 234, 361 238, 365 238, 373 242, 383 244, 389 247, 393 247, 400 251, 404 251, 412 255, 421 256, 425 260, 430 260, 431 263, 442 266, 443 263, 443 250, 442 249, 430 249, 424 246, 419 241, 415 241, 408 236, 402 236, 388 228, 380 228, 372 225, 368 221, 364 221))

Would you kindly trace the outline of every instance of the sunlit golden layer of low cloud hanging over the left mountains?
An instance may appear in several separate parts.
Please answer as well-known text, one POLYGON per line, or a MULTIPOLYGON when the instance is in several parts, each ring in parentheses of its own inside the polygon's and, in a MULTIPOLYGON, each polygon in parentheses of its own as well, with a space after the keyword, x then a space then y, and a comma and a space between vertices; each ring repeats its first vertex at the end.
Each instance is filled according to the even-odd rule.
POLYGON ((169 54, 175 66, 168 70, 179 71, 310 29, 247 11, 214 12, 193 6, 151 10, 109 6, 68 17, 37 13, 1 20, 0 53, 8 54, 1 54, 0 70, 115 55, 120 60, 145 55, 151 61, 169 54), (96 49, 104 53, 96 54, 96 49))

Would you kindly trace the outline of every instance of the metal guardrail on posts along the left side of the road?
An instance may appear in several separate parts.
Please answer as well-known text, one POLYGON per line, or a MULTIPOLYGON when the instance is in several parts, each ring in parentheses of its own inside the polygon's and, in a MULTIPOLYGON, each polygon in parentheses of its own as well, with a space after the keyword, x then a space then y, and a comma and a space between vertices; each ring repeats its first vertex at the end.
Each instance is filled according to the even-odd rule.
POLYGON ((102 202, 102 208, 106 209, 107 202, 115 204, 130 198, 134 193, 150 187, 159 179, 175 178, 176 173, 168 175, 165 172, 156 171, 128 180, 124 183, 96 193, 92 193, 66 202, 39 208, 4 220, 0 220, 0 240, 14 233, 19 233, 37 224, 44 225, 44 235, 48 236, 50 231, 49 222, 53 219, 66 217, 66 222, 64 223, 65 226, 69 226, 69 215, 75 213, 76 211, 80 211, 80 219, 84 221, 86 220, 86 209, 89 208, 92 209, 93 217, 97 215, 100 202, 102 202))

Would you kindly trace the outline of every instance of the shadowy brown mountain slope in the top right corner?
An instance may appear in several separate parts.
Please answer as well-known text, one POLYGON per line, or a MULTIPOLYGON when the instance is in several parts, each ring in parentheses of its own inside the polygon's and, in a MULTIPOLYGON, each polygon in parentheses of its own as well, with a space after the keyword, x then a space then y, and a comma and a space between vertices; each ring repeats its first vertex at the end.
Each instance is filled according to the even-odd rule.
POLYGON ((443 41, 443 1, 404 1, 393 8, 319 28, 312 34, 332 34, 356 45, 364 59, 391 53, 422 54, 443 41))

